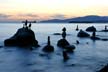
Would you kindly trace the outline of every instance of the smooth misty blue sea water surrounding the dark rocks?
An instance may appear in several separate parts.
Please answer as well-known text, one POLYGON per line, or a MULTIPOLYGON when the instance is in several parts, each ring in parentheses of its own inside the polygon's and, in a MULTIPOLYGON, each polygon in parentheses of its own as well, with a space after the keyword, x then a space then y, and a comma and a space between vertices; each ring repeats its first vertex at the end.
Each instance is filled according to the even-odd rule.
MULTIPOLYGON (((93 25, 100 31, 108 24, 78 25, 83 30, 93 25)), ((108 41, 78 38, 78 31, 75 31, 77 24, 32 24, 32 30, 41 47, 32 51, 18 47, 5 47, 4 40, 13 36, 22 26, 20 23, 0 23, 0 46, 3 46, 0 48, 0 72, 96 72, 108 62, 108 41), (63 61, 62 49, 57 47, 57 41, 62 37, 53 35, 53 33, 61 33, 63 27, 67 28, 69 34, 66 39, 71 45, 76 46, 74 53, 69 53, 70 59, 67 62, 63 61), (47 44, 48 36, 51 37, 51 45, 55 48, 55 51, 50 54, 42 51, 47 44), (80 41, 79 45, 75 44, 76 40, 80 41)), ((101 38, 108 38, 108 32, 96 34, 101 38)))

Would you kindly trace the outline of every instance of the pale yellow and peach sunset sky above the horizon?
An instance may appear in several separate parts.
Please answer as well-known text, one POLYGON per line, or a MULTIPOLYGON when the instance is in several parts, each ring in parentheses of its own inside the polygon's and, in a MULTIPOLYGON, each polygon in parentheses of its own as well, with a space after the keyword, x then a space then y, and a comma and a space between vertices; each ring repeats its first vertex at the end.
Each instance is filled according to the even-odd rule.
POLYGON ((108 0, 0 0, 0 21, 108 16, 108 0))

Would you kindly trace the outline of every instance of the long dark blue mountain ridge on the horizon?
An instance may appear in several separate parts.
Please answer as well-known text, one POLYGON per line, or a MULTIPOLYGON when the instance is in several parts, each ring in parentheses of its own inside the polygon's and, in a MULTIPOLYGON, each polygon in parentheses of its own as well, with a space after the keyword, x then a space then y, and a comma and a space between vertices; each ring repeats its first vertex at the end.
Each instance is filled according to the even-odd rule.
POLYGON ((64 20, 51 19, 41 21, 41 23, 108 23, 108 16, 89 15, 64 20))

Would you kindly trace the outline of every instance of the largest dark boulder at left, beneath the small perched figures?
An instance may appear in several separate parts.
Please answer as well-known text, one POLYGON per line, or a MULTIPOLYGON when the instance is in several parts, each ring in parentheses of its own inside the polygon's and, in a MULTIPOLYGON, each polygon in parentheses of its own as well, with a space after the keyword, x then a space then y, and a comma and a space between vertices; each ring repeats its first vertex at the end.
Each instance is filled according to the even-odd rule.
POLYGON ((11 38, 4 41, 5 46, 35 46, 38 47, 38 41, 31 29, 20 28, 11 38))

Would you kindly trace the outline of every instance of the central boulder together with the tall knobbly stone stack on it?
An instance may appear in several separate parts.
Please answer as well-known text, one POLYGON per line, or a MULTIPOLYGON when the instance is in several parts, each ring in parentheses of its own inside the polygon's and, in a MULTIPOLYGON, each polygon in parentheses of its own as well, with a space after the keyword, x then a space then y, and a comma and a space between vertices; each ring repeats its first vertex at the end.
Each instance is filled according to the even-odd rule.
POLYGON ((70 45, 69 42, 66 40, 66 28, 64 27, 62 31, 62 39, 60 39, 57 43, 57 46, 59 47, 65 47, 67 45, 70 45))

